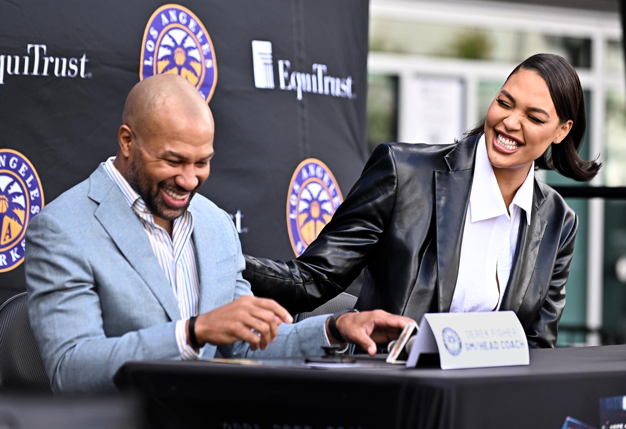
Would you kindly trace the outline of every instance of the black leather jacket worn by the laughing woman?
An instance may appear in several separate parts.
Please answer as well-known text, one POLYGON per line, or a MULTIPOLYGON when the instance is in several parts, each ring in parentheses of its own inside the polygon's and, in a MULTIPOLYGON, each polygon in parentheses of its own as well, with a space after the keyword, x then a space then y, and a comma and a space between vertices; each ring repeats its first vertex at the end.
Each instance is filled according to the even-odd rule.
MULTIPOLYGON (((246 256, 244 278, 257 296, 292 313, 341 293, 365 268, 356 308, 418 321, 449 311, 456 286, 476 144, 380 144, 320 235, 287 263, 246 256)), ((525 213, 521 213, 522 218, 525 213)), ((554 347, 578 217, 536 181, 530 225, 520 222, 500 310, 513 310, 528 345, 554 347)))

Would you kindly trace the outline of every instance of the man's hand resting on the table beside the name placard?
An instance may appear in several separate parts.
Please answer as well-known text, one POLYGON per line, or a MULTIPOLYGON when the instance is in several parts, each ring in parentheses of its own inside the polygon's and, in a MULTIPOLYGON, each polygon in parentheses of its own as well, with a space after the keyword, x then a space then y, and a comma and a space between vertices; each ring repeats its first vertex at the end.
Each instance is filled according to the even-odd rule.
MULTIPOLYGON (((369 355, 374 356, 376 355, 377 343, 396 340, 402 333, 404 326, 412 321, 408 317, 392 315, 387 311, 373 310, 362 313, 346 313, 337 318, 335 325, 344 340, 361 346, 367 350, 369 355)), ((332 338, 328 331, 328 320, 326 320, 326 333, 331 342, 339 342, 332 338)))

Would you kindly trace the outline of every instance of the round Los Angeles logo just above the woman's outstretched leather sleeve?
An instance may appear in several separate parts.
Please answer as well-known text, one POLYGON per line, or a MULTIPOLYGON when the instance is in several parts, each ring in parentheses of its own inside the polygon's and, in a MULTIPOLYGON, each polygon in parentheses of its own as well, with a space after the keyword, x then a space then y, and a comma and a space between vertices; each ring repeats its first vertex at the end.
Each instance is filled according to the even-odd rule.
POLYGON ((287 230, 296 256, 316 239, 343 200, 339 184, 322 161, 309 158, 297 166, 287 198, 287 230))

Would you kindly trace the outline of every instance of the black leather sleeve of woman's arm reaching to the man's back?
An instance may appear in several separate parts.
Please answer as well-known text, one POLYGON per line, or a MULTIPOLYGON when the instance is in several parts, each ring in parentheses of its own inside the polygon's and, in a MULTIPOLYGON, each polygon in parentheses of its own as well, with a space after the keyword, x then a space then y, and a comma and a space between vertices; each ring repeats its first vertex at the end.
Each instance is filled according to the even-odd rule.
POLYGON ((332 220, 299 258, 283 262, 245 255, 244 278, 254 295, 296 314, 346 290, 384 238, 397 186, 393 151, 379 144, 332 220))

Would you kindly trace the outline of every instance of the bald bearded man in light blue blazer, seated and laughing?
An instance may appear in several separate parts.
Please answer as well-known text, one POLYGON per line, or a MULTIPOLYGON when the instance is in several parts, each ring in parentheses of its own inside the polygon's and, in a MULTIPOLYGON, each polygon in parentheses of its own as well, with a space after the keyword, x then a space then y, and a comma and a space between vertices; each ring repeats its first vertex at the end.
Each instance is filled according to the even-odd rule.
POLYGON ((118 153, 48 204, 26 232, 28 312, 56 393, 113 390, 126 361, 371 354, 408 319, 384 311, 292 317, 255 298, 230 216, 197 195, 213 118, 174 74, 130 91, 118 153))

